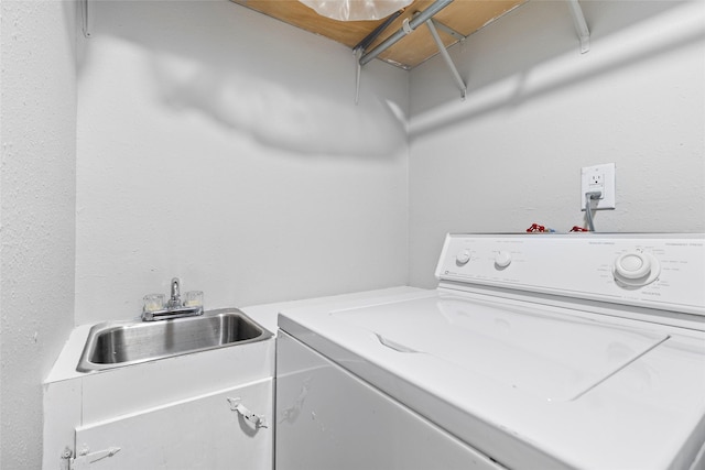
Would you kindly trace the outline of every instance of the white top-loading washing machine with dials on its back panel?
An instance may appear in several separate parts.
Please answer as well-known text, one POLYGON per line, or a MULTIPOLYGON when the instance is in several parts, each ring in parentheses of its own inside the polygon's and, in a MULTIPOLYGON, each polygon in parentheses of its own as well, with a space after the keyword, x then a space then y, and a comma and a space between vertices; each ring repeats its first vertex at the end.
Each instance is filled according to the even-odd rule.
POLYGON ((705 236, 452 234, 440 284, 279 317, 288 469, 705 469, 705 236))

